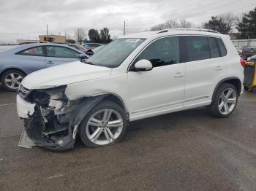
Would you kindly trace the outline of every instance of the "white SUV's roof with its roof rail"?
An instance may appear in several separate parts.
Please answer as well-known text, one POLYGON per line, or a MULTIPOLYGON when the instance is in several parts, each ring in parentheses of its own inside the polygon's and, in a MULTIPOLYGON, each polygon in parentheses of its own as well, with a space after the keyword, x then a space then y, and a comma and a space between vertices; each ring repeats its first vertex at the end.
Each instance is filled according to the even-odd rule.
POLYGON ((193 34, 193 35, 206 35, 206 36, 222 36, 223 34, 219 34, 217 31, 201 29, 201 28, 172 28, 165 29, 162 31, 146 31, 140 32, 136 34, 128 34, 125 36, 119 36, 119 38, 155 38, 160 36, 167 35, 178 35, 178 34, 193 34))

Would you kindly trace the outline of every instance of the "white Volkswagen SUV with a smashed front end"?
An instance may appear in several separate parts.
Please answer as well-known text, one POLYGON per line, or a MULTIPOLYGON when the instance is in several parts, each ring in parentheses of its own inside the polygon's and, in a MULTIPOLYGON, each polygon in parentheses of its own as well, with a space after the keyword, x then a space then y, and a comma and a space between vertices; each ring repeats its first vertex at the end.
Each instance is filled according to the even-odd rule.
POLYGON ((199 106, 236 108, 243 62, 227 35, 173 29, 123 36, 84 62, 29 74, 18 90, 20 146, 69 149, 115 144, 130 121, 199 106))

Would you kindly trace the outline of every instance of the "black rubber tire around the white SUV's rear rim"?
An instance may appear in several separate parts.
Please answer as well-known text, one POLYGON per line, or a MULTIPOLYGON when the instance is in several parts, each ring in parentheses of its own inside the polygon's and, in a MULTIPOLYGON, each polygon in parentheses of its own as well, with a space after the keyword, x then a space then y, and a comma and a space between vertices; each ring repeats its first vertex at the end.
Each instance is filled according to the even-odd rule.
POLYGON ((223 83, 222 85, 220 85, 218 87, 216 93, 214 94, 214 96, 212 98, 211 105, 209 106, 209 110, 210 110, 211 114, 214 115, 215 117, 228 117, 236 109, 236 105, 235 105, 233 110, 230 113, 228 113, 228 114, 222 114, 222 112, 219 111, 219 99, 220 99, 220 96, 222 95, 223 91, 227 90, 228 88, 232 88, 234 93, 236 93, 236 105, 237 105, 237 102, 238 102, 238 90, 236 89, 236 87, 234 85, 223 83))

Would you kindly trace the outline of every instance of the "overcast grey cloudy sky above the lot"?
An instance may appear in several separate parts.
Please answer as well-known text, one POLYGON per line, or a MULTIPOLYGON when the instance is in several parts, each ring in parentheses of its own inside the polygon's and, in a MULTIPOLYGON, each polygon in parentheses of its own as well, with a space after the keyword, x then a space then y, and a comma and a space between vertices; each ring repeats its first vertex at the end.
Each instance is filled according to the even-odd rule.
POLYGON ((0 0, 0 42, 38 39, 38 35, 71 38, 76 28, 110 29, 111 36, 147 31, 168 19, 186 19, 201 26, 211 15, 241 15, 256 7, 255 0, 0 0))

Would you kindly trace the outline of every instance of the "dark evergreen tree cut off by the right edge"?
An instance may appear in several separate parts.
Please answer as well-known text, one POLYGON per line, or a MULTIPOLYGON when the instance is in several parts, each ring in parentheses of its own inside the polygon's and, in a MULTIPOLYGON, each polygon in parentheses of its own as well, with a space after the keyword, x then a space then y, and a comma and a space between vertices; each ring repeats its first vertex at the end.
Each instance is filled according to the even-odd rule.
POLYGON ((256 38, 256 7, 249 13, 245 13, 240 23, 237 26, 238 31, 241 33, 241 39, 254 39, 256 38))

